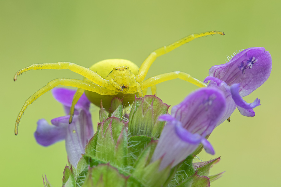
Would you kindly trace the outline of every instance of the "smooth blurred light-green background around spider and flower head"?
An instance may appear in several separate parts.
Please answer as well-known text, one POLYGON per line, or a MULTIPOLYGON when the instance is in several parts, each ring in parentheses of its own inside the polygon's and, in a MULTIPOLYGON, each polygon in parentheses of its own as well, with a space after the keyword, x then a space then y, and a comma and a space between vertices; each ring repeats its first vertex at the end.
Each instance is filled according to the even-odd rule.
MULTIPOLYGON (((67 164, 64 141, 49 147, 33 137, 38 119, 63 116, 62 106, 44 94, 27 108, 13 134, 25 100, 55 78, 81 79, 69 70, 30 71, 13 76, 33 63, 73 62, 85 67, 110 58, 141 65, 153 50, 192 33, 224 31, 196 39, 154 62, 147 78, 175 70, 203 80, 226 55, 248 47, 265 47, 273 69, 261 88, 244 98, 261 99, 255 117, 235 111, 211 134, 214 156, 221 156, 211 174, 226 170, 212 186, 279 186, 280 182, 280 1, 0 1, 1 130, 0 185, 43 186, 46 174, 53 186, 62 185, 67 164), (278 185, 279 184, 279 185, 278 185)), ((178 104, 196 86, 182 80, 157 85, 158 97, 178 104)), ((98 108, 91 107, 96 126, 98 108)), ((199 161, 199 160, 198 160, 199 161)))

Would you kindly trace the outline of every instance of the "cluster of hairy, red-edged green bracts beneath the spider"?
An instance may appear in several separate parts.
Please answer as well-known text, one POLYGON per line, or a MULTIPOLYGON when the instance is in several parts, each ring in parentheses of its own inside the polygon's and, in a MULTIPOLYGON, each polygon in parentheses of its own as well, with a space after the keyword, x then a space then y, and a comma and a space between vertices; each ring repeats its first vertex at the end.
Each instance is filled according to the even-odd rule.
MULTIPOLYGON (((123 116, 122 100, 114 98, 111 103, 109 115, 101 103, 96 134, 76 168, 66 166, 64 187, 209 187, 222 175, 209 176, 219 158, 193 163, 202 145, 173 168, 168 165, 159 170, 162 158, 151 161, 164 125, 157 117, 166 114, 169 107, 159 98, 136 98, 129 116, 131 123, 123 116)), ((44 187, 51 187, 47 179, 44 187)))

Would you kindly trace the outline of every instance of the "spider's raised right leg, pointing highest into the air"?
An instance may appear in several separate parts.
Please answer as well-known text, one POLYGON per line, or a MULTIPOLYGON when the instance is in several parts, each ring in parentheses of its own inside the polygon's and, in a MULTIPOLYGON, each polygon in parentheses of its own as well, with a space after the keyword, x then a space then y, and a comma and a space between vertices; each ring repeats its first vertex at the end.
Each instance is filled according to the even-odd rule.
POLYGON ((164 55, 168 52, 170 52, 171 50, 174 50, 175 48, 182 46, 192 40, 194 40, 195 38, 199 38, 202 36, 207 36, 207 35, 213 35, 213 34, 220 34, 220 35, 224 35, 223 32, 219 32, 219 31, 210 31, 210 32, 203 32, 200 34, 192 34, 189 35, 179 41, 176 41, 175 43, 170 44, 169 46, 163 46, 159 49, 156 49, 155 51, 153 51, 152 53, 150 53, 150 55, 145 59, 145 61, 142 63, 140 69, 139 69, 139 74, 137 76, 137 81, 143 81, 145 79, 145 76, 150 68, 150 66, 152 65, 152 63, 155 61, 155 59, 158 56, 164 55))

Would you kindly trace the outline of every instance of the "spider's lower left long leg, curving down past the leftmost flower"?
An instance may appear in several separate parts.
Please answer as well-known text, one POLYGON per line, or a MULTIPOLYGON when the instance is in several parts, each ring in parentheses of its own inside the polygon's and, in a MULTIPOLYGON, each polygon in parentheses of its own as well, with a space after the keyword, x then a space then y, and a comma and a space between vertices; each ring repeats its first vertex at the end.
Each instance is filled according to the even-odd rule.
POLYGON ((34 102, 41 95, 43 95, 44 93, 46 93, 47 91, 53 89, 54 87, 56 87, 58 85, 72 86, 72 87, 76 87, 76 88, 80 88, 80 89, 85 89, 85 90, 89 90, 89 91, 92 91, 92 92, 99 93, 101 95, 115 95, 115 94, 117 94, 117 92, 115 92, 115 91, 111 91, 109 89, 103 88, 99 85, 96 85, 96 84, 93 84, 91 82, 84 81, 84 80, 54 79, 54 80, 50 81, 46 86, 44 86, 43 88, 41 88, 37 92, 35 92, 31 97, 29 97, 25 101, 21 111, 18 114, 17 120, 16 120, 15 135, 18 134, 17 126, 18 126, 18 124, 20 122, 20 119, 22 117, 22 114, 26 110, 27 106, 30 105, 32 102, 34 102))

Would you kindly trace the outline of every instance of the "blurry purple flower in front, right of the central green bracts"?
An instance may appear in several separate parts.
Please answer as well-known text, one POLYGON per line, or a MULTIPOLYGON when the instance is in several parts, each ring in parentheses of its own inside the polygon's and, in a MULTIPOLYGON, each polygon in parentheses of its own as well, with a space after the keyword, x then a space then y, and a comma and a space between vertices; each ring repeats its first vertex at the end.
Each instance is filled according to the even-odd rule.
POLYGON ((152 156, 152 161, 162 159, 159 170, 183 161, 200 142, 208 153, 214 154, 205 136, 213 131, 224 109, 225 98, 221 91, 202 88, 174 106, 171 115, 160 116, 159 120, 167 121, 167 124, 152 156))

